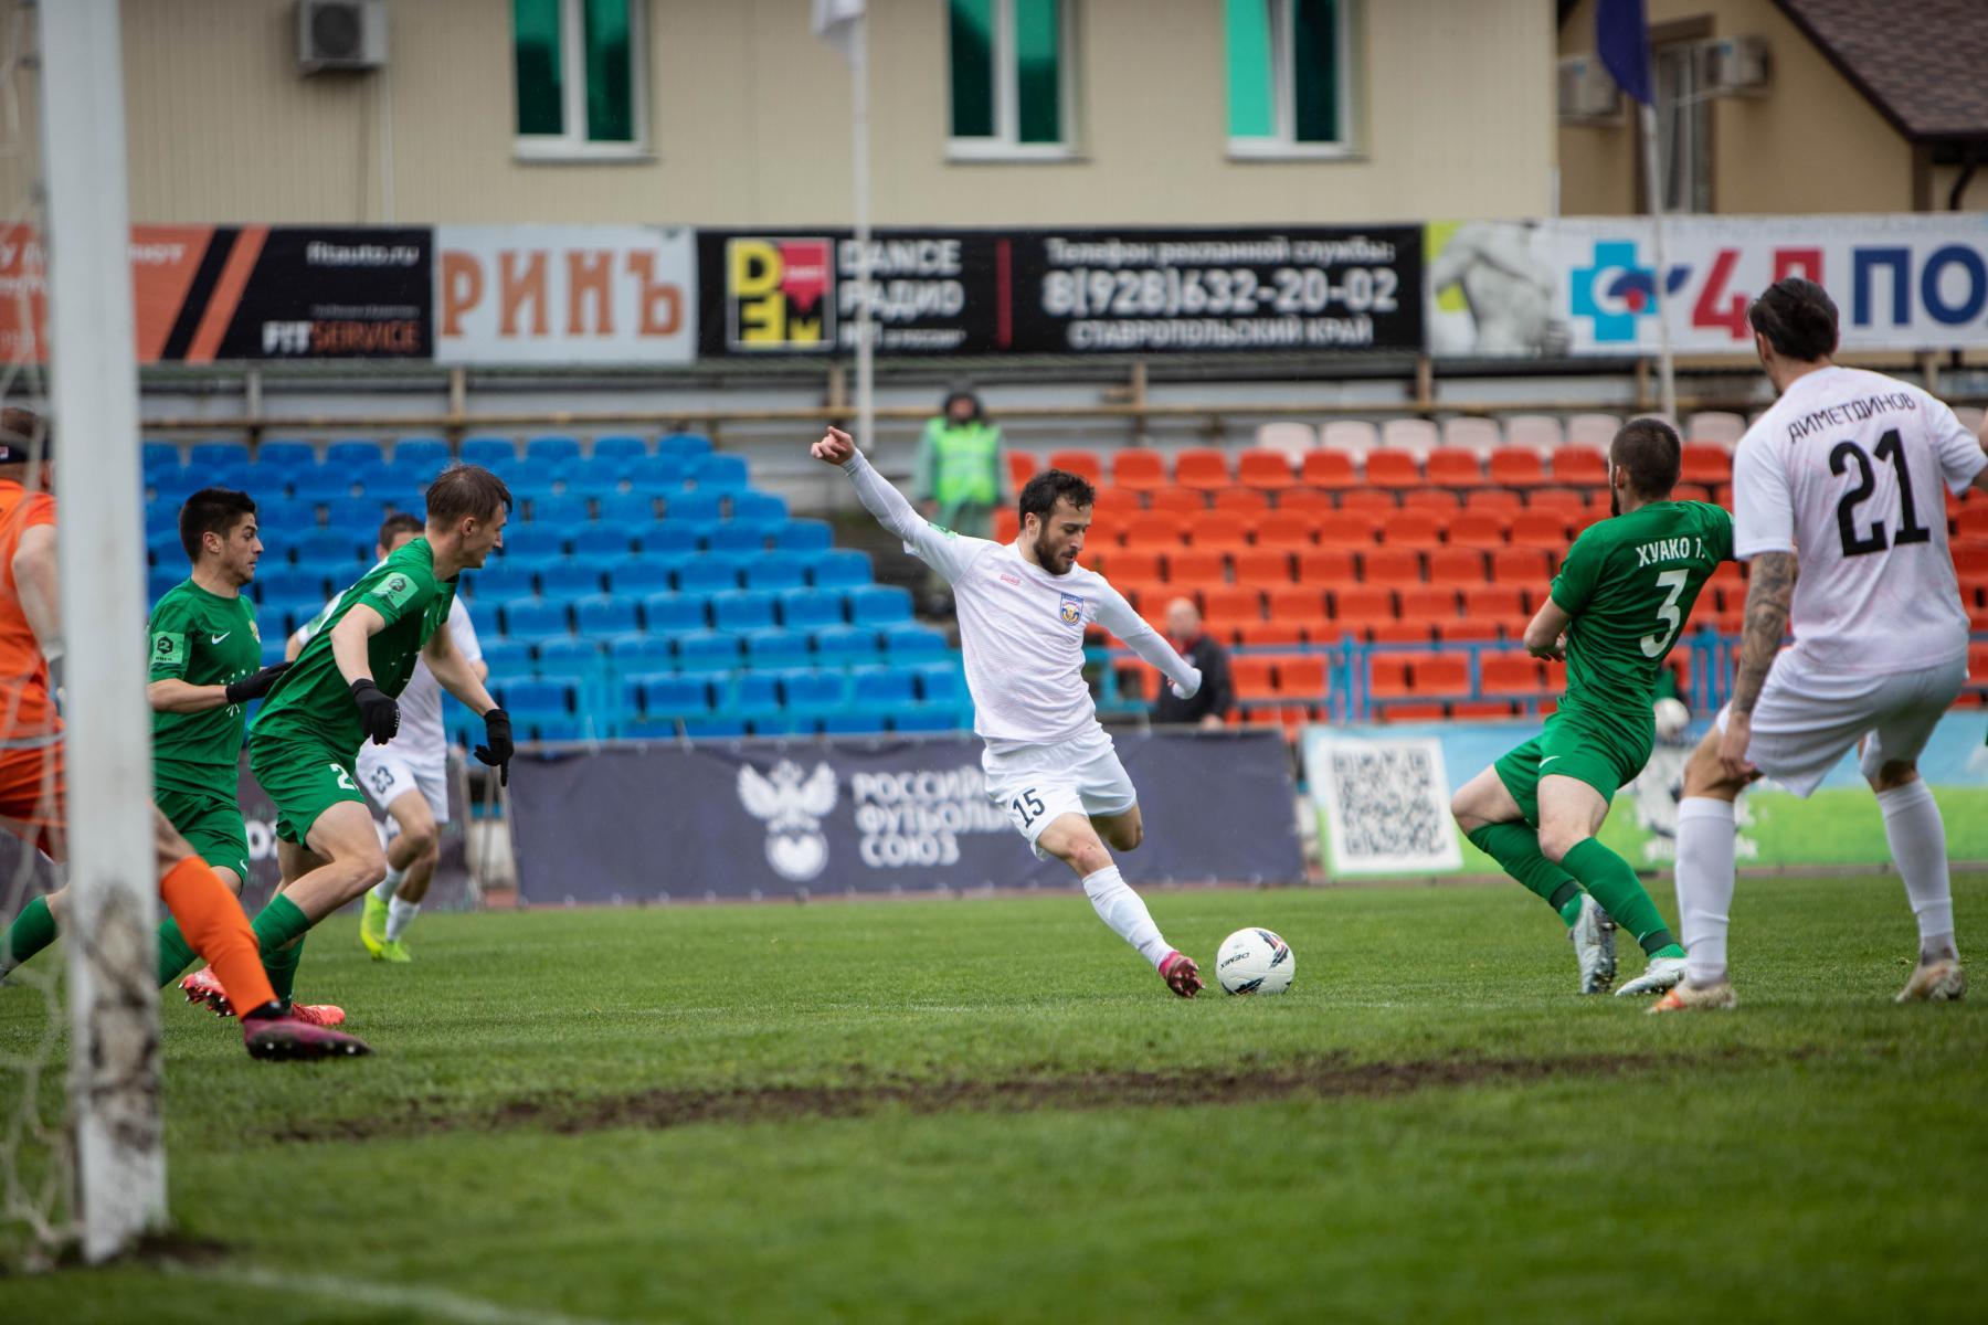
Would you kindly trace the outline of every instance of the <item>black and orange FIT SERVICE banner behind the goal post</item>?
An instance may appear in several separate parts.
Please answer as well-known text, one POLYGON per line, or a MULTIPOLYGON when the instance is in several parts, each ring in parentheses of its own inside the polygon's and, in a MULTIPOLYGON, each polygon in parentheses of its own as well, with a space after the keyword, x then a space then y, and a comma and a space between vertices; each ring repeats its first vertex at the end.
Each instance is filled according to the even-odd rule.
MULTIPOLYGON (((139 364, 425 360, 429 240, 392 226, 133 226, 139 364)), ((46 326, 40 236, 0 230, 0 356, 42 362, 46 326)))

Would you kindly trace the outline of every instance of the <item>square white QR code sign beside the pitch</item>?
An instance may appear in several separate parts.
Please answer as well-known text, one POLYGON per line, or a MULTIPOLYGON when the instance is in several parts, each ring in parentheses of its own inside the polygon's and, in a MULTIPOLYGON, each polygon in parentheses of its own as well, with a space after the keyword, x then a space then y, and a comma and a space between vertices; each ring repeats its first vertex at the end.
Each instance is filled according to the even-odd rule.
POLYGON ((1334 874, 1463 866, 1439 741, 1326 741, 1320 755, 1312 795, 1326 810, 1334 874))

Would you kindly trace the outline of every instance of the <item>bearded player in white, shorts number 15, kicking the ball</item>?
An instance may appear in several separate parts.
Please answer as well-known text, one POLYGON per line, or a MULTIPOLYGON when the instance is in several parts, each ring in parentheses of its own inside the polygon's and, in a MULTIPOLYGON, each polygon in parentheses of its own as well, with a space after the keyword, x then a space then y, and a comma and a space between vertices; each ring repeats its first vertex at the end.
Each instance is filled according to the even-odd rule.
POLYGON ((1036 856, 1076 870, 1097 918, 1151 961, 1169 989, 1195 997, 1199 967, 1167 946, 1105 848, 1131 850, 1143 826, 1139 793, 1097 725, 1083 683, 1083 628, 1097 622, 1115 634, 1167 673, 1181 699, 1201 689, 1201 671, 1101 574, 1077 566, 1091 524, 1091 485, 1060 469, 1036 475, 1022 489, 1020 536, 1000 544, 928 524, 837 427, 813 455, 841 465, 877 522, 952 584, 974 731, 986 741, 980 767, 988 797, 1036 856))

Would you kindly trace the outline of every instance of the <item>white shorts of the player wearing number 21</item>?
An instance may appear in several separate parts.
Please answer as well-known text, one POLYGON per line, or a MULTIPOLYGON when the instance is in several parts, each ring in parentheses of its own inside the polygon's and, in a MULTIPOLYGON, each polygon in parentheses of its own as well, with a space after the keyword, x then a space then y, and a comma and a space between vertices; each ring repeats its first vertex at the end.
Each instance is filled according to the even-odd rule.
MULTIPOLYGON (((1966 658, 1924 671, 1873 675, 1815 667, 1799 650, 1783 650, 1753 703, 1747 759, 1807 797, 1843 751, 1863 741, 1859 765, 1865 777, 1877 777, 1887 763, 1918 759, 1966 681, 1966 658)), ((1720 709, 1720 731, 1726 731, 1726 713, 1720 709)))

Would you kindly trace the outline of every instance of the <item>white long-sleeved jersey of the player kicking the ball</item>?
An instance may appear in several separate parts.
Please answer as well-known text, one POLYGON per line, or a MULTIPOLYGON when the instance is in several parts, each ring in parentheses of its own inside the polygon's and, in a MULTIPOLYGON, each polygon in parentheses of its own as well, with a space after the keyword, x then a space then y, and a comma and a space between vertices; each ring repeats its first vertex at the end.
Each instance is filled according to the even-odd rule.
POLYGON ((859 453, 843 469, 905 550, 952 584, 974 733, 990 745, 1050 745, 1097 725, 1083 681, 1083 628, 1097 622, 1185 683, 1193 665, 1095 570, 1050 574, 1014 544, 934 528, 859 453))

